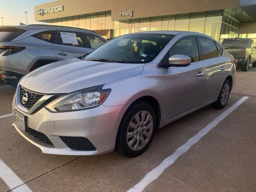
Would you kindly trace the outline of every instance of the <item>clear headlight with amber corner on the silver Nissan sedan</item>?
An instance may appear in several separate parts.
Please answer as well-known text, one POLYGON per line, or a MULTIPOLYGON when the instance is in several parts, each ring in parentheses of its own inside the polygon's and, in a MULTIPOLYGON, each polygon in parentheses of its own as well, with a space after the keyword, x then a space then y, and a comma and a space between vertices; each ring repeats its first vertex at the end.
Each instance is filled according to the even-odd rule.
POLYGON ((104 102, 111 89, 102 89, 103 85, 68 93, 46 106, 51 112, 78 111, 99 106, 104 102))

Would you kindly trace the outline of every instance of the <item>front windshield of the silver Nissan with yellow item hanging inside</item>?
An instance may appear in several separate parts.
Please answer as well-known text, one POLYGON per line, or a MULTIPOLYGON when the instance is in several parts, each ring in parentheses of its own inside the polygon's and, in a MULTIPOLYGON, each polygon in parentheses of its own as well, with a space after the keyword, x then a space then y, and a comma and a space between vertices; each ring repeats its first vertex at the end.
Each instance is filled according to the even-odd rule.
POLYGON ((84 57, 106 62, 147 63, 174 37, 170 34, 128 34, 106 42, 84 57))

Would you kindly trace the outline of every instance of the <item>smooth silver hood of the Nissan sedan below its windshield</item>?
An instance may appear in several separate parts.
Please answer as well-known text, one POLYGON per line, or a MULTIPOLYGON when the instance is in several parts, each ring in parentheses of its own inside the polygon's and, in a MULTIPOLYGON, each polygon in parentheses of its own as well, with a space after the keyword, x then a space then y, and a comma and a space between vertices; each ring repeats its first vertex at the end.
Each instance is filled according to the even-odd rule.
POLYGON ((62 60, 40 67, 20 80, 24 88, 45 94, 69 93, 142 73, 144 64, 62 60))

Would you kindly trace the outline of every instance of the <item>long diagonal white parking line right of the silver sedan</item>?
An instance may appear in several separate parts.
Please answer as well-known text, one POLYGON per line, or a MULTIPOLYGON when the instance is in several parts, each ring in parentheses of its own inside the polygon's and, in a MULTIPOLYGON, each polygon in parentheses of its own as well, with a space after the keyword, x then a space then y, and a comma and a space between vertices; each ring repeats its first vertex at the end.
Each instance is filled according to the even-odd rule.
POLYGON ((195 136, 190 138, 184 145, 180 146, 171 156, 167 157, 160 165, 150 171, 146 176, 134 187, 132 187, 128 192, 141 192, 144 188, 154 181, 156 178, 162 174, 162 172, 171 164, 175 162, 175 160, 184 154, 192 145, 198 142, 204 135, 206 135, 212 128, 218 125, 226 116, 228 116, 232 111, 234 111, 238 106, 240 106, 246 99, 249 97, 243 97, 230 108, 228 108, 225 112, 220 114, 215 120, 210 122, 205 128, 200 130, 195 136))

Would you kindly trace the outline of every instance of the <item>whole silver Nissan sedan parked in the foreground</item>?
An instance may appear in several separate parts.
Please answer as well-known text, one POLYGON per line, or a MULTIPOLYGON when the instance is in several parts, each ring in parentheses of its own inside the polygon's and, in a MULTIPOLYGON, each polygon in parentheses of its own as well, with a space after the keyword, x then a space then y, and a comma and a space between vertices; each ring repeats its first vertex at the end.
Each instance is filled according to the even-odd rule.
POLYGON ((83 59, 48 64, 20 80, 16 130, 42 152, 142 154, 154 133, 206 105, 226 106, 235 60, 196 32, 114 38, 83 59))

